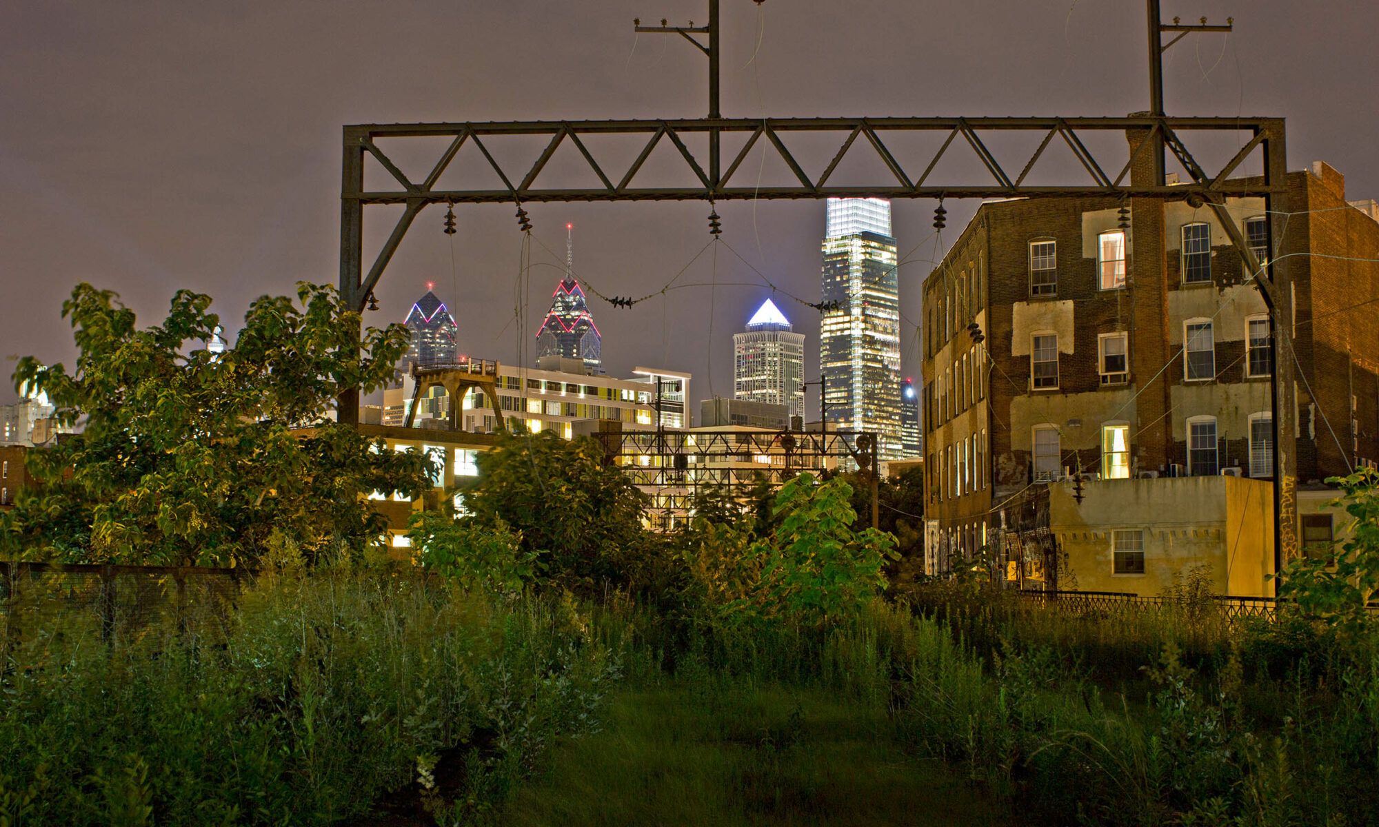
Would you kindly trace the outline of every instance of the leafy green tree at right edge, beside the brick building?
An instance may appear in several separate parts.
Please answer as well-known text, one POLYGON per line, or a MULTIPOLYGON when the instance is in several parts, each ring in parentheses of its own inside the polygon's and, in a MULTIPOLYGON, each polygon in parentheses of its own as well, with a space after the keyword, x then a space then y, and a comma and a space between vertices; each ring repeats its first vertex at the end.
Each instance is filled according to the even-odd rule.
POLYGON ((1331 504, 1345 506, 1354 517, 1350 539, 1340 551, 1313 549, 1313 555, 1289 562, 1281 572, 1278 595, 1295 600, 1305 616, 1342 633, 1362 633, 1375 626, 1365 606, 1379 595, 1379 471, 1360 469, 1327 482, 1345 492, 1331 504))

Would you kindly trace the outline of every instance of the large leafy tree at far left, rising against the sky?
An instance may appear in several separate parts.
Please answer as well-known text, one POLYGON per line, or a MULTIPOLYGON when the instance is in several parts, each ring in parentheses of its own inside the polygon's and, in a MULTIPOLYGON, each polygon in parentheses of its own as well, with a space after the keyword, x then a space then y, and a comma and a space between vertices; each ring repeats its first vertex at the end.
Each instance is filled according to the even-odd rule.
POLYGON ((392 378, 405 327, 368 328, 360 343, 360 314, 332 288, 301 283, 296 300, 255 300, 236 346, 215 354, 199 346, 219 325, 210 306, 178 291, 163 324, 139 329, 116 294, 72 291, 62 316, 74 369, 25 357, 14 380, 46 391, 55 416, 83 430, 30 453, 43 485, 3 517, 0 547, 73 562, 236 565, 276 532, 310 561, 375 542, 383 522, 363 493, 427 487, 426 459, 325 419, 342 390, 392 378))

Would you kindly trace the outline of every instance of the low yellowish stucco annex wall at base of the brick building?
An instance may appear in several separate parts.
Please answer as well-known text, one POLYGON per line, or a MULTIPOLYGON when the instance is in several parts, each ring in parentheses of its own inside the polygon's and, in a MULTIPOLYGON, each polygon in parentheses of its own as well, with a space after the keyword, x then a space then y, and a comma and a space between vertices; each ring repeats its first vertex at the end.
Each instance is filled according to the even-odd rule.
POLYGON ((1081 503, 1073 484, 1049 492, 1049 529, 1058 536, 1062 587, 1162 594, 1197 565, 1216 594, 1265 595, 1273 571, 1273 485, 1237 477, 1100 480, 1081 503), (1143 531, 1145 573, 1113 571, 1113 532, 1143 531), (1076 586, 1074 586, 1076 583, 1076 586))

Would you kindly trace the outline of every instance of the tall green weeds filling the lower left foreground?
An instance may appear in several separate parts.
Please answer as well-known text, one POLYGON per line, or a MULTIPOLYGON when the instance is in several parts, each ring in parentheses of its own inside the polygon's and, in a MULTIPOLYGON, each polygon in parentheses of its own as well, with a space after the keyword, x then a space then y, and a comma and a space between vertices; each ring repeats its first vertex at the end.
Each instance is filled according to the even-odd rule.
POLYGON ((491 813, 619 674, 568 605, 387 573, 265 578, 223 631, 101 644, 80 615, 0 673, 0 824, 331 824, 437 755, 491 813))

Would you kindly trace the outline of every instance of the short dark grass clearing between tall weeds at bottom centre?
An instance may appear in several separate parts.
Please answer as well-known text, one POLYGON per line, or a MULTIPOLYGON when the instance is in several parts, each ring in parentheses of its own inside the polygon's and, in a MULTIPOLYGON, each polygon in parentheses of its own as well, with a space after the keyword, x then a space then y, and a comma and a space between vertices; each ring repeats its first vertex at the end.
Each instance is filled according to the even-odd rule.
POLYGON ((884 713, 822 691, 629 692, 604 731, 563 744, 505 823, 579 827, 994 824, 936 761, 907 755, 884 713))

